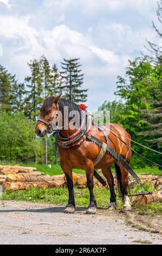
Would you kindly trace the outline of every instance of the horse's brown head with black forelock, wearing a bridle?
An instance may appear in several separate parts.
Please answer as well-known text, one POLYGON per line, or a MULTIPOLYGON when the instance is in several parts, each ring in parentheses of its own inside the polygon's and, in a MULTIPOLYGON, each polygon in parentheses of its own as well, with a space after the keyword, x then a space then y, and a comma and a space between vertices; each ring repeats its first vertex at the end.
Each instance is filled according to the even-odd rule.
POLYGON ((49 94, 44 100, 41 108, 41 114, 35 127, 37 136, 44 137, 47 133, 57 130, 59 121, 57 111, 59 110, 60 96, 61 95, 53 97, 49 94))

